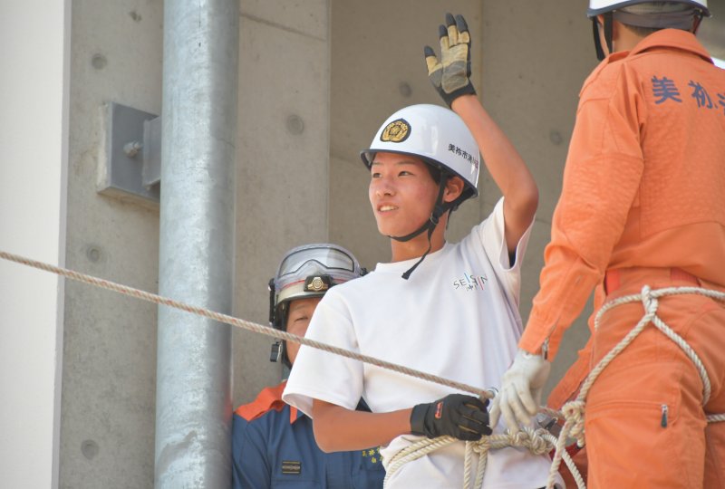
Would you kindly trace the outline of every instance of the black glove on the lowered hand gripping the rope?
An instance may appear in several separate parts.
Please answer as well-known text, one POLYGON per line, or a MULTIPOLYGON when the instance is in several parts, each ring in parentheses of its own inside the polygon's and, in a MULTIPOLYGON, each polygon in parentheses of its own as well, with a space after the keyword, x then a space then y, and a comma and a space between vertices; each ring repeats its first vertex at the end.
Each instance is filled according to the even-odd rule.
POLYGON ((490 435, 488 399, 463 394, 449 394, 430 404, 419 404, 411 412, 411 433, 429 438, 454 436, 459 440, 476 441, 490 435))

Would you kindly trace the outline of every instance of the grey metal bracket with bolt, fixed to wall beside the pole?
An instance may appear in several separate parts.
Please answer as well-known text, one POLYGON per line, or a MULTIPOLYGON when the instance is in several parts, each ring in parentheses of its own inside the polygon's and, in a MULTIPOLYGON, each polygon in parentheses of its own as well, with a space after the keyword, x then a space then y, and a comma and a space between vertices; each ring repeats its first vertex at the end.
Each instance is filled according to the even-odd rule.
POLYGON ((161 118, 110 102, 103 107, 104 148, 98 192, 158 206, 161 180, 161 118))

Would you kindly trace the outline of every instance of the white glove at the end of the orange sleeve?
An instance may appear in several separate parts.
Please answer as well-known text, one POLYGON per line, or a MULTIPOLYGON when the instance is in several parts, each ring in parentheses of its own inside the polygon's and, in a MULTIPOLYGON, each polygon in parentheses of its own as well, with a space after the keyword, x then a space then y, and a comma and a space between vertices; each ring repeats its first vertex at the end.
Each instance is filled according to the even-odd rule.
POLYGON ((536 416, 550 371, 551 363, 541 355, 518 350, 514 363, 504 374, 501 390, 493 399, 490 427, 498 425, 501 414, 512 433, 517 433, 519 424, 529 425, 531 417, 536 416))

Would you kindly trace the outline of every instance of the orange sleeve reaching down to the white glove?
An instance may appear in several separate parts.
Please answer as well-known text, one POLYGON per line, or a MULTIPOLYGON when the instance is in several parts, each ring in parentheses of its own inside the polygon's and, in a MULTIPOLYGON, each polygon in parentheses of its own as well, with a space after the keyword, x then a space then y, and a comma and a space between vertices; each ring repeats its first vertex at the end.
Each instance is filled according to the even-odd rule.
POLYGON ((602 281, 640 185, 646 108, 632 78, 621 63, 600 66, 582 91, 540 289, 519 341, 535 353, 548 340, 549 360, 602 281))

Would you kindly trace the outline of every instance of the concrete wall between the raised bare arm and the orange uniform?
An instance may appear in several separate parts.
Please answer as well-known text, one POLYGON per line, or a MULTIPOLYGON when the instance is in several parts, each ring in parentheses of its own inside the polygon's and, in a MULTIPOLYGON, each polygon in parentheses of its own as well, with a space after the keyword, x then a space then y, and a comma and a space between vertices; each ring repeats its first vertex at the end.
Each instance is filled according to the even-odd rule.
MULTIPOLYGON (((486 1, 484 17, 482 100, 527 161, 539 188, 521 290, 521 315, 526 321, 561 192, 579 90, 597 60, 592 25, 580 0, 559 0, 556 9, 526 0, 486 1)), ((590 312, 591 305, 567 332, 549 388, 588 338, 585 320, 590 312)))

